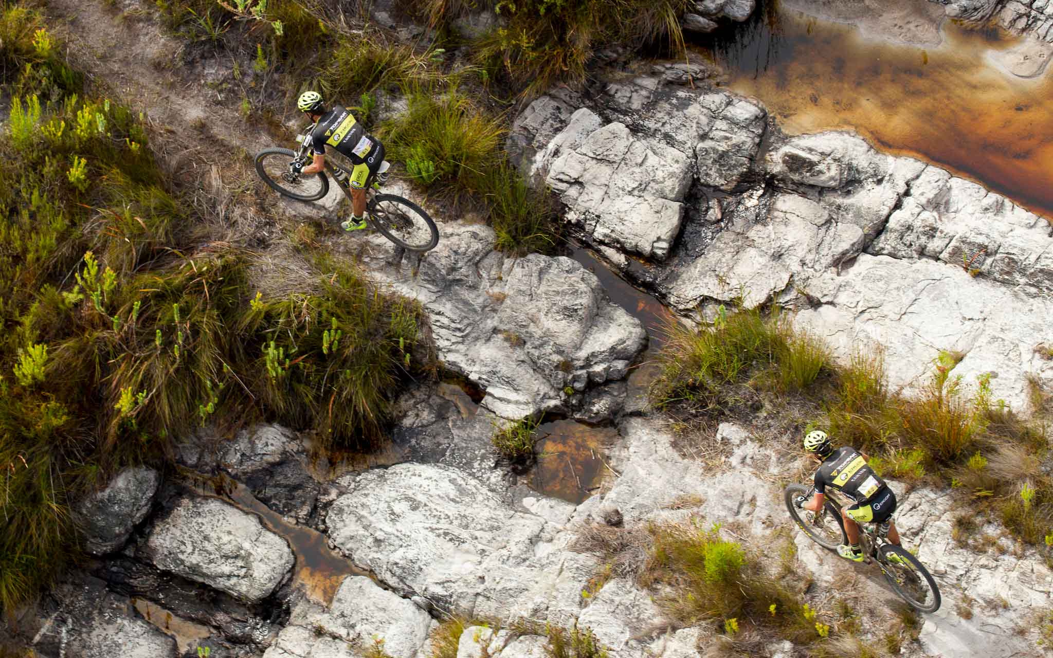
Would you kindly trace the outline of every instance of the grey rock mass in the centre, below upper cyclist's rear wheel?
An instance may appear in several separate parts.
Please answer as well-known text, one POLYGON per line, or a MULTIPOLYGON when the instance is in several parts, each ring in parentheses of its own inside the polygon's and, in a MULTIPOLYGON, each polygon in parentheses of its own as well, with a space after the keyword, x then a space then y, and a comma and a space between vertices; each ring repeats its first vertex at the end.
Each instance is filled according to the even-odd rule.
POLYGON ((384 267, 374 278, 423 304, 438 357, 503 418, 563 408, 567 388, 623 378, 647 342, 579 263, 506 258, 488 226, 444 224, 416 276, 384 267))

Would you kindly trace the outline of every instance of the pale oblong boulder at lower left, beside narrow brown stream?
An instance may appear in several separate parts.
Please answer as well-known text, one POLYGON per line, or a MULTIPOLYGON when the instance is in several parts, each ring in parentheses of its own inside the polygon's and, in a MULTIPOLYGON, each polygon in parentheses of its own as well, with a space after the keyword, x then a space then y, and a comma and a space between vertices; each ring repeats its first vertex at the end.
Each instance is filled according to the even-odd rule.
POLYGON ((142 555, 159 569, 247 601, 270 596, 293 566, 284 539, 259 518, 214 498, 183 498, 150 534, 142 555))

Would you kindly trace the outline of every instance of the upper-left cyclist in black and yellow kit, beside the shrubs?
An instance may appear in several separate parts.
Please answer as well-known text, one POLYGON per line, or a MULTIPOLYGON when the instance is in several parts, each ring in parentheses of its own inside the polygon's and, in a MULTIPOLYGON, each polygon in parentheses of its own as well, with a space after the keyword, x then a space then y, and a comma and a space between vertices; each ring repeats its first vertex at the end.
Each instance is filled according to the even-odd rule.
POLYGON ((296 107, 315 123, 310 137, 314 161, 299 173, 320 173, 325 166, 326 145, 346 156, 355 167, 347 183, 344 183, 339 175, 337 180, 345 186, 351 185, 352 216, 346 221, 340 222, 340 227, 344 231, 365 228, 365 180, 370 174, 375 174, 377 181, 383 183, 388 179, 388 168, 391 166, 384 160, 384 145, 366 133, 346 107, 333 105, 326 108, 318 92, 300 94, 296 107))

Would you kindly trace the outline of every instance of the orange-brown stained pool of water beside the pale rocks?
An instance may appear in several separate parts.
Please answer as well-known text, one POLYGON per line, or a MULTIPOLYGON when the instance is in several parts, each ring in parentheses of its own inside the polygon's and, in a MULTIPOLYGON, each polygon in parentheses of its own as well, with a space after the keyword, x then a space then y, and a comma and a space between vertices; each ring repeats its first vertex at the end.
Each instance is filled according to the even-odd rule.
POLYGON ((774 16, 734 33, 718 59, 731 88, 761 100, 786 133, 852 128, 1053 217, 1053 76, 1022 79, 990 60, 1017 38, 947 21, 942 43, 926 48, 774 16))

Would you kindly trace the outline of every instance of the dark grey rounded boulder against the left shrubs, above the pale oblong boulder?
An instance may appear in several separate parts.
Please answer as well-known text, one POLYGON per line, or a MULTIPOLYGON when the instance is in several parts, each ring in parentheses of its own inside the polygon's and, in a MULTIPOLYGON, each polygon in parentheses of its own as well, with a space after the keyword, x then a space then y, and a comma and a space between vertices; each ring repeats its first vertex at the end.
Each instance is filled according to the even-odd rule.
POLYGON ((76 520, 84 533, 84 549, 104 555, 123 546, 133 529, 146 518, 160 481, 153 468, 125 468, 104 490, 79 503, 76 520))

